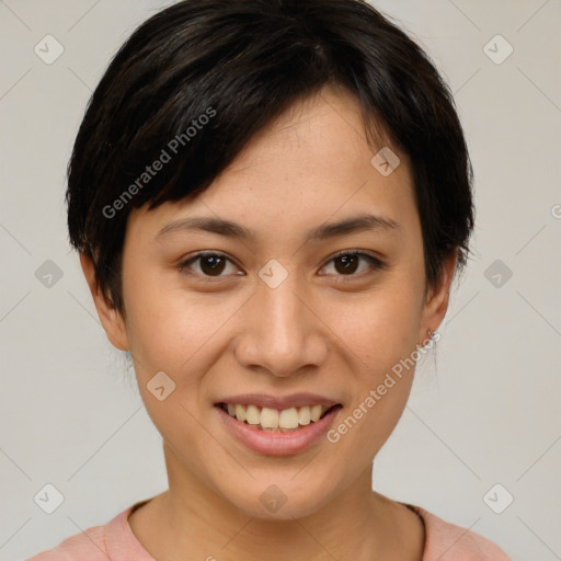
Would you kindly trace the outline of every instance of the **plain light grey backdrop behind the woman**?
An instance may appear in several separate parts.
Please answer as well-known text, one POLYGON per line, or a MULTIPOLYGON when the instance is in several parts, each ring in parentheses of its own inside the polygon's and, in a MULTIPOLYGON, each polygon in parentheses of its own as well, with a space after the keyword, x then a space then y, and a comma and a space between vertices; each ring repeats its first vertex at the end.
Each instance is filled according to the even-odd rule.
MULTIPOLYGON (((0 1, 5 561, 105 524, 167 488, 160 436, 69 252, 64 192, 73 138, 110 57, 169 3, 0 1), (34 51, 47 49, 47 34, 64 47, 50 65, 34 51), (53 514, 34 502, 46 483, 65 499, 53 514)), ((417 368, 403 417, 375 461, 374 488, 488 536, 515 560, 561 559, 561 3, 374 3, 449 81, 478 209, 473 260, 438 348, 417 368), (488 55, 504 57, 505 43, 484 48, 497 34, 514 48, 501 64, 488 55), (504 489, 485 503, 496 483, 504 489), (514 502, 495 514, 488 504, 504 507, 506 493, 514 502)))

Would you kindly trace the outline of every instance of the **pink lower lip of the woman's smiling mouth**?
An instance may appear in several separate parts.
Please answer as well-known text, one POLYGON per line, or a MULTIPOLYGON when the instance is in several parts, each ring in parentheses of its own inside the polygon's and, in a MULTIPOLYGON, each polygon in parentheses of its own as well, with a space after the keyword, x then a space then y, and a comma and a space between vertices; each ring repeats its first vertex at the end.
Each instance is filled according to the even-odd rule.
POLYGON ((329 431, 333 420, 342 409, 341 407, 333 408, 316 423, 310 423, 309 425, 298 428, 298 431, 277 433, 253 428, 233 416, 230 416, 219 405, 215 407, 228 430, 231 431, 241 443, 254 451, 268 454, 271 456, 285 456, 306 450, 329 431))

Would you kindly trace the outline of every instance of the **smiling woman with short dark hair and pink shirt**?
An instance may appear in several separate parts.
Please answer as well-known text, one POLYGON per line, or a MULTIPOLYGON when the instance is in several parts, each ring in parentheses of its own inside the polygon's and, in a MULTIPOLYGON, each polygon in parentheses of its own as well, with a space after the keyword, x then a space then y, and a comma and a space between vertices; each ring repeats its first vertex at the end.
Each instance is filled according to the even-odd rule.
POLYGON ((473 227, 422 49, 359 0, 187 0, 98 85, 70 239, 169 490, 33 561, 507 560, 371 490, 473 227))

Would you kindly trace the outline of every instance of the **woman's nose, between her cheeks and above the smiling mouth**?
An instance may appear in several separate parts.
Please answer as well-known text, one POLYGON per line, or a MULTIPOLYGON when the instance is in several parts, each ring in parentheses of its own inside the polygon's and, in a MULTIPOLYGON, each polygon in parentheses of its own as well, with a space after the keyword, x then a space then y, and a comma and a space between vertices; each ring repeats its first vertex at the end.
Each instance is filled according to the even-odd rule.
POLYGON ((330 347, 329 329, 311 300, 296 274, 289 274, 276 288, 259 280, 255 294, 241 310, 241 330, 234 343, 239 364, 276 377, 321 366, 330 347))

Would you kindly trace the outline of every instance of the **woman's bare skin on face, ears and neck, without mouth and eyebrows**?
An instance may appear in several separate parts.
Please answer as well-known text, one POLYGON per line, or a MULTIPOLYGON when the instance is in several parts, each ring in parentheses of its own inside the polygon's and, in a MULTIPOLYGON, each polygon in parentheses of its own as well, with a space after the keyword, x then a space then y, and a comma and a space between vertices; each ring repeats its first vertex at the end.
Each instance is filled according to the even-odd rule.
POLYGON ((154 558, 421 559, 421 520, 371 491, 373 459, 403 412, 414 369, 337 443, 320 438, 291 456, 244 447, 214 408, 227 394, 311 391, 343 404, 336 426, 440 324, 456 254, 438 286, 427 287, 408 159, 392 148, 401 164, 382 176, 370 164, 378 149, 367 144, 354 96, 324 88, 254 136, 198 197, 131 213, 125 317, 100 293, 82 255, 107 337, 131 353, 163 439, 169 490, 129 517, 154 558), (364 213, 398 227, 304 242, 313 227, 364 213), (156 239, 191 216, 229 219, 256 238, 175 231, 156 239), (218 277, 208 280, 204 260, 181 268, 186 256, 208 250, 230 259, 218 277), (345 273, 333 260, 341 250, 362 250, 386 266, 362 259, 345 273), (257 275, 271 259, 288 273, 274 289, 257 275), (163 401, 147 390, 161 370, 176 385, 163 401), (260 501, 271 484, 287 497, 276 513, 260 501))

